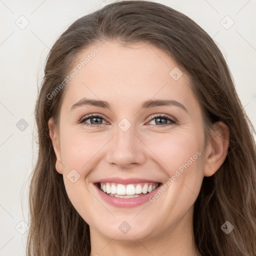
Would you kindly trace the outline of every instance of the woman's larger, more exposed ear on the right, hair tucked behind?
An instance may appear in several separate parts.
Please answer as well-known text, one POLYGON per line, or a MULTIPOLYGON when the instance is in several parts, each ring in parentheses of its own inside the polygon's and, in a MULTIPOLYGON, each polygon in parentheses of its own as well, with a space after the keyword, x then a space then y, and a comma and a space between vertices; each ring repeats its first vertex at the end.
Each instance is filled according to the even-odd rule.
POLYGON ((222 121, 213 124, 211 140, 206 146, 204 176, 213 175, 224 162, 229 145, 229 129, 222 121))

